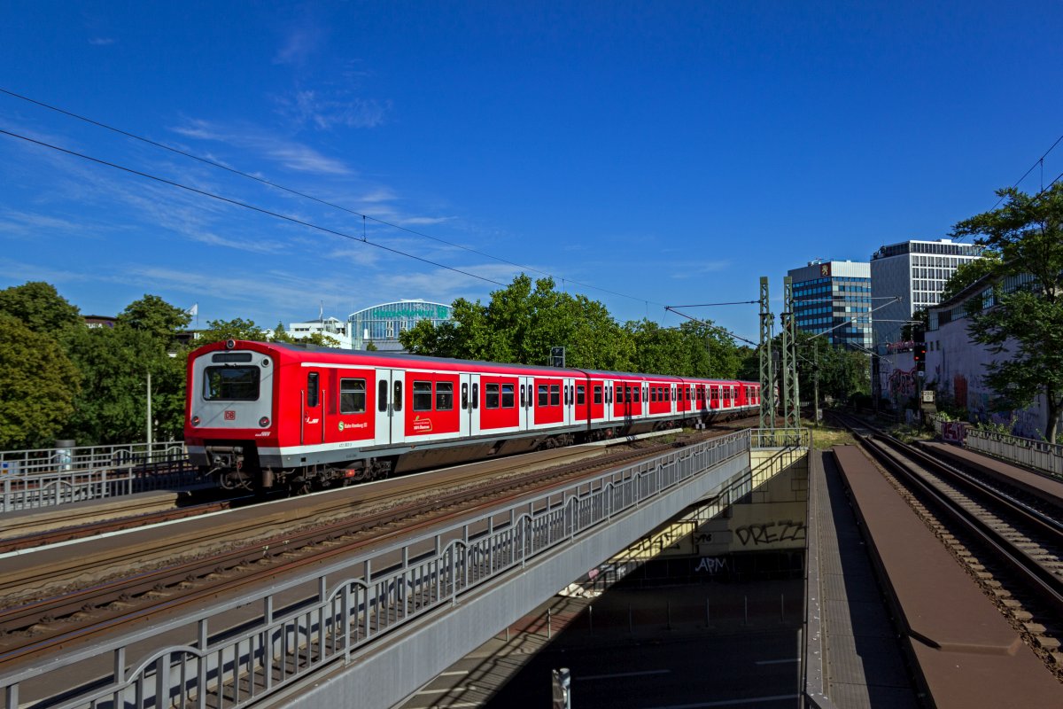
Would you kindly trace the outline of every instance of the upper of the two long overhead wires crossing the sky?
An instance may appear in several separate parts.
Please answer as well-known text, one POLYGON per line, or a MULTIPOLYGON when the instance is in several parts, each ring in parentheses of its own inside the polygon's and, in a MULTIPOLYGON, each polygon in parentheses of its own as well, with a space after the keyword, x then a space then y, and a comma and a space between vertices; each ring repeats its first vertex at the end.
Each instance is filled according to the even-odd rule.
MULTIPOLYGON (((269 180, 266 180, 264 178, 259 178, 257 175, 250 174, 250 173, 244 172, 242 170, 238 170, 236 168, 232 168, 232 167, 230 167, 227 165, 223 165, 223 164, 218 163, 216 161, 212 161, 210 158, 203 157, 202 155, 197 155, 195 153, 191 153, 191 152, 188 152, 188 151, 185 151, 185 150, 180 150, 178 148, 173 148, 172 146, 167 146, 166 144, 158 142, 157 140, 152 140, 151 138, 146 138, 144 136, 137 135, 136 133, 132 133, 130 131, 125 131, 125 130, 122 130, 122 129, 119 129, 119 128, 115 128, 115 126, 109 125, 107 123, 104 123, 102 121, 98 121, 98 120, 88 118, 87 116, 82 116, 80 114, 77 114, 77 113, 74 113, 72 111, 67 111, 65 108, 61 108, 58 106, 51 105, 51 104, 46 103, 44 101, 38 101, 37 99, 33 99, 33 98, 30 98, 28 96, 23 96, 21 94, 18 94, 16 91, 12 91, 12 90, 6 89, 6 88, 0 87, 0 94, 4 94, 4 95, 10 96, 12 98, 16 98, 16 99, 19 99, 21 101, 26 101, 28 103, 32 103, 34 105, 40 106, 43 108, 47 108, 49 111, 54 111, 55 113, 62 114, 64 116, 67 116, 67 117, 70 117, 70 118, 73 118, 73 119, 77 119, 77 120, 80 120, 80 121, 84 121, 86 123, 89 123, 91 125, 96 125, 98 128, 102 128, 102 129, 107 130, 107 131, 112 131, 114 133, 117 133, 119 135, 123 135, 125 137, 132 138, 134 140, 139 140, 141 142, 145 142, 147 145, 153 146, 153 147, 158 148, 161 150, 166 150, 166 151, 169 151, 171 153, 183 155, 185 157, 188 157, 189 159, 198 161, 198 162, 200 162, 200 163, 202 163, 204 165, 208 165, 210 167, 215 167, 215 168, 218 168, 220 170, 225 170, 226 172, 231 172, 231 173, 239 175, 241 178, 247 178, 248 180, 254 180, 255 182, 258 182, 260 184, 267 185, 269 187, 273 187, 274 189, 283 190, 283 191, 288 192, 290 195, 294 195, 297 197, 301 197, 303 199, 307 199, 307 200, 310 200, 313 202, 317 202, 318 204, 321 204, 321 205, 324 205, 324 206, 328 206, 328 207, 332 207, 332 208, 335 208, 335 209, 340 209, 342 212, 345 212, 348 214, 352 214, 352 215, 355 215, 355 216, 359 216, 359 217, 361 217, 361 220, 362 220, 362 238, 361 239, 355 239, 355 240, 360 240, 360 241, 365 241, 367 243, 370 243, 366 239, 366 220, 372 220, 373 222, 382 224, 384 226, 389 226, 391 229, 395 229, 395 230, 399 230, 399 231, 406 232, 407 234, 412 234, 415 236, 420 236, 420 237, 423 237, 423 238, 426 238, 426 239, 431 239, 433 241, 438 241, 439 243, 445 243, 446 246, 454 247, 456 249, 461 249, 461 250, 468 251, 470 253, 474 253, 474 254, 477 254, 479 256, 484 256, 485 258, 491 258, 491 259, 496 260, 499 263, 506 264, 508 266, 512 266, 514 268, 521 269, 522 271, 530 271, 533 273, 539 273, 539 274, 542 274, 542 275, 545 275, 545 276, 549 276, 549 277, 555 277, 552 273, 549 273, 546 271, 543 271, 543 270, 540 270, 540 269, 536 269, 536 268, 532 268, 529 266, 524 266, 524 265, 521 265, 521 264, 517 264, 514 261, 502 258, 500 256, 494 256, 492 254, 488 254, 488 253, 485 253, 483 251, 478 251, 476 249, 472 249, 471 247, 465 247, 465 246, 461 246, 460 243, 454 243, 453 241, 448 241, 446 239, 442 239, 442 238, 439 238, 439 237, 436 237, 436 236, 432 236, 431 234, 425 234, 423 232, 419 232, 417 230, 412 230, 412 229, 409 229, 407 226, 403 226, 401 224, 395 224, 395 223, 392 223, 392 222, 385 221, 383 219, 377 219, 376 217, 372 217, 372 216, 364 214, 361 212, 357 212, 355 209, 351 209, 350 207, 344 207, 344 206, 342 206, 340 204, 336 204, 336 203, 330 202, 327 200, 322 200, 322 199, 320 199, 318 197, 314 197, 313 195, 308 195, 306 192, 303 192, 303 191, 300 191, 300 190, 297 190, 297 189, 292 189, 290 187, 286 187, 284 185, 281 185, 281 184, 271 182, 269 180)), ((21 136, 16 136, 16 137, 21 137, 21 136)), ((99 162, 106 164, 104 161, 99 161, 99 162)), ((115 167, 115 166, 113 166, 113 167, 115 167)), ((130 171, 131 172, 135 172, 134 170, 130 170, 130 171)), ((146 175, 146 176, 150 176, 150 175, 146 175)), ((348 238, 350 238, 350 237, 348 237, 348 238)), ((379 244, 375 244, 374 243, 373 246, 379 246, 379 244)), ((410 254, 405 254, 404 252, 401 252, 401 251, 398 251, 398 250, 392 250, 392 251, 394 251, 395 253, 403 254, 403 255, 410 255, 410 254)), ((417 257, 417 256, 411 256, 411 257, 417 258, 418 260, 425 260, 425 259, 417 257)), ((427 261, 427 263, 431 263, 431 261, 427 261)), ((445 267, 444 266, 443 268, 450 268, 450 267, 445 267)), ((457 269, 451 269, 451 270, 457 270, 457 269)), ((461 271, 458 271, 458 272, 461 272, 461 271)), ((476 276, 476 277, 479 277, 479 276, 476 276)), ((503 285, 503 284, 497 284, 497 282, 491 281, 489 278, 480 278, 480 280, 487 281, 489 283, 493 283, 493 284, 496 284, 496 285, 503 285)), ((618 298, 624 298, 624 299, 627 299, 627 300, 643 301, 647 305, 647 313, 646 313, 647 317, 648 317, 648 304, 649 303, 653 303, 654 305, 659 305, 661 307, 664 307, 663 303, 658 303, 656 301, 646 301, 644 298, 638 298, 636 296, 628 296, 627 293, 621 293, 621 292, 618 292, 618 291, 614 291, 614 290, 609 290, 607 288, 601 288, 598 286, 594 286, 594 285, 587 284, 587 283, 581 283, 579 281, 574 281, 572 278, 568 278, 568 281, 570 281, 571 283, 573 283, 576 286, 579 286, 581 288, 587 288, 587 289, 590 289, 590 290, 596 290, 596 291, 602 292, 602 293, 608 293, 610 296, 615 296, 618 298)))

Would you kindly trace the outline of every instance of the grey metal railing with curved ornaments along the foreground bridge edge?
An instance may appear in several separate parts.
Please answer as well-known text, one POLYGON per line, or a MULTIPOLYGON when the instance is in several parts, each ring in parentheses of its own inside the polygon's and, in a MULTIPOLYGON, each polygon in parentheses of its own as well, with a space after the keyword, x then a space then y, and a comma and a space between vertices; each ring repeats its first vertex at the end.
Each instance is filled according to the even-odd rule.
POLYGON ((247 706, 310 673, 349 661, 355 651, 455 604, 485 581, 519 572, 529 559, 577 542, 595 525, 748 454, 750 438, 745 431, 672 451, 530 503, 482 512, 482 519, 334 562, 313 575, 277 583, 268 594, 159 620, 149 628, 71 651, 44 666, 9 673, 0 676, 0 709, 247 706), (508 521, 500 523, 504 519, 508 521), (291 594, 300 588, 316 592, 292 602, 291 594), (281 598, 288 605, 282 607, 281 598), (251 618, 240 617, 239 609, 247 608, 254 609, 251 618), (183 635, 186 644, 144 649, 146 641, 164 634, 183 635), (102 663, 108 668, 106 676, 71 688, 66 678, 73 666, 95 660, 94 669, 102 672, 100 657, 109 657, 102 663), (33 688, 40 691, 53 678, 51 686, 62 687, 62 696, 31 697, 30 680, 38 675, 33 688))

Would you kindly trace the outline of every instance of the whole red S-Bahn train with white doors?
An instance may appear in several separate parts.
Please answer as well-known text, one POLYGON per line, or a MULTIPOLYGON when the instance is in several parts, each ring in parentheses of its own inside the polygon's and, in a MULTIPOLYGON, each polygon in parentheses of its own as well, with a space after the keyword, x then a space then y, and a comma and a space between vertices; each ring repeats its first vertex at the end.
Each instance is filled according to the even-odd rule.
POLYGON ((188 356, 185 443, 223 487, 302 491, 759 405, 755 382, 229 340, 188 356))

